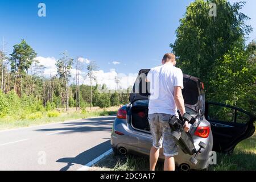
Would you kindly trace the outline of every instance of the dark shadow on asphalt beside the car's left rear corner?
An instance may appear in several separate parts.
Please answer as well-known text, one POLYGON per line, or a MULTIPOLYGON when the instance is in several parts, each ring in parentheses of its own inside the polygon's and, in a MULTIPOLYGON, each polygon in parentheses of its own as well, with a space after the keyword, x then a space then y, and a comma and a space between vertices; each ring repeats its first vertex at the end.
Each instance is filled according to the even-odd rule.
POLYGON ((60 171, 67 171, 69 167, 73 166, 74 164, 81 164, 85 165, 92 161, 93 159, 97 158, 104 152, 108 151, 111 148, 110 140, 98 144, 97 146, 90 148, 82 152, 81 154, 77 155, 75 158, 61 158, 58 159, 56 162, 58 163, 67 163, 67 166, 60 169, 60 171))

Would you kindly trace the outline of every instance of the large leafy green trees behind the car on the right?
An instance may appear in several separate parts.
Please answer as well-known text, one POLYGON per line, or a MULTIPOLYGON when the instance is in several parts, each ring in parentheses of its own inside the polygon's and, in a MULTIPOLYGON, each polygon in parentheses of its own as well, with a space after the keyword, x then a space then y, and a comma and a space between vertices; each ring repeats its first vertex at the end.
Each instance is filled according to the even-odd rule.
MULTIPOLYGON (((195 0, 180 19, 170 44, 183 73, 204 82, 206 101, 241 107, 256 114, 256 42, 241 13, 246 2, 195 0), (216 16, 210 16, 210 3, 216 16)), ((227 113, 227 111, 224 111, 227 113)))

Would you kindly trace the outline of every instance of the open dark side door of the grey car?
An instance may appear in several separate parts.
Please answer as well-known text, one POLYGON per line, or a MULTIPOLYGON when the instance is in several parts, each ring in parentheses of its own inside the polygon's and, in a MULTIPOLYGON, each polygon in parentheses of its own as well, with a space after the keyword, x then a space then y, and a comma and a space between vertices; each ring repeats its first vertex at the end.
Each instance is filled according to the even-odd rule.
POLYGON ((205 118, 211 125, 216 152, 232 154, 234 147, 255 131, 255 116, 237 107, 205 102, 205 118))

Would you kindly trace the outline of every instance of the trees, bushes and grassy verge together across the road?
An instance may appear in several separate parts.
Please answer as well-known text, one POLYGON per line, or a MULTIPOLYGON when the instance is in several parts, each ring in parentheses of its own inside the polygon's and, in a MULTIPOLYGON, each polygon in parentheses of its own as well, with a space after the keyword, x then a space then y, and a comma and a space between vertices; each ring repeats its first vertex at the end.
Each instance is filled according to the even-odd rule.
POLYGON ((74 60, 65 51, 56 61, 57 72, 44 75, 46 68, 36 56, 24 39, 9 55, 0 51, 0 129, 114 114, 129 101, 118 77, 114 90, 97 84, 95 61, 74 60), (85 79, 89 85, 79 84, 85 79))

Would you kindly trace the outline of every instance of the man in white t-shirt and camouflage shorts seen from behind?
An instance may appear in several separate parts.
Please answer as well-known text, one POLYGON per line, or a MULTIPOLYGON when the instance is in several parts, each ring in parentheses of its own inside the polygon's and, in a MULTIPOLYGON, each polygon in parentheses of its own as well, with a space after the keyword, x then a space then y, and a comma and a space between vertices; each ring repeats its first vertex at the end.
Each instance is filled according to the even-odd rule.
MULTIPOLYGON (((166 53, 162 66, 152 68, 146 78, 150 82, 151 96, 148 105, 148 122, 152 133, 153 143, 150 150, 150 170, 154 171, 159 157, 159 149, 164 151, 164 171, 174 171, 174 156, 178 154, 177 144, 172 138, 172 131, 168 123, 171 115, 179 117, 185 113, 183 89, 183 73, 176 68, 175 55, 166 53)), ((189 131, 188 122, 184 131, 189 131)))

